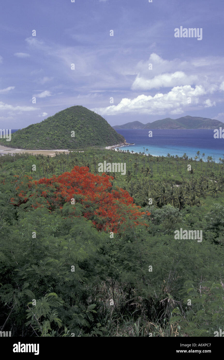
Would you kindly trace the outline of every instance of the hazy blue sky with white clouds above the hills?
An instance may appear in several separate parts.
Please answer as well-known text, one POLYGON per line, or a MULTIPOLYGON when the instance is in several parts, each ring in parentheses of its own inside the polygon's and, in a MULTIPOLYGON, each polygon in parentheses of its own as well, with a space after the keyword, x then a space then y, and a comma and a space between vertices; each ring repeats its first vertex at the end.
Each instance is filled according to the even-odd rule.
POLYGON ((4 1, 0 128, 73 105, 112 126, 185 115, 224 121, 223 10, 223 0, 4 1), (202 40, 174 37, 181 26, 202 28, 202 40))

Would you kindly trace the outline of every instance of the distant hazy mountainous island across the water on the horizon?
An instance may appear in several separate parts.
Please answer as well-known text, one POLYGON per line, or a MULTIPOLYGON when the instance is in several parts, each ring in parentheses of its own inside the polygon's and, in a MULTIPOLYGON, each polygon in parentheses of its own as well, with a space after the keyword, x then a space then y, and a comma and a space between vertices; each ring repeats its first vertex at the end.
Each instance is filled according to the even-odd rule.
POLYGON ((167 117, 143 124, 140 121, 127 122, 124 125, 115 125, 114 129, 215 129, 224 123, 215 119, 197 116, 183 116, 178 119, 167 117))

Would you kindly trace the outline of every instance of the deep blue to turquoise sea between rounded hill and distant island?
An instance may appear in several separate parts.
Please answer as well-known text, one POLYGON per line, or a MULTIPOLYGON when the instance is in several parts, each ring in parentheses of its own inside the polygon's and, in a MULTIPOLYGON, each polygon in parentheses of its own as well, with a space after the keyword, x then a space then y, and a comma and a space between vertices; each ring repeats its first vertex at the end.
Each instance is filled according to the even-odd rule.
POLYGON ((205 153, 205 158, 215 157, 215 162, 224 156, 224 139, 214 139, 214 130, 152 130, 151 138, 147 129, 116 131, 124 136, 127 143, 135 144, 121 147, 122 150, 143 152, 145 147, 145 152, 148 149, 153 156, 166 156, 168 153, 182 156, 186 153, 189 158, 194 158, 199 150, 201 154, 205 153))

